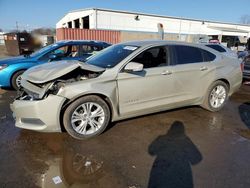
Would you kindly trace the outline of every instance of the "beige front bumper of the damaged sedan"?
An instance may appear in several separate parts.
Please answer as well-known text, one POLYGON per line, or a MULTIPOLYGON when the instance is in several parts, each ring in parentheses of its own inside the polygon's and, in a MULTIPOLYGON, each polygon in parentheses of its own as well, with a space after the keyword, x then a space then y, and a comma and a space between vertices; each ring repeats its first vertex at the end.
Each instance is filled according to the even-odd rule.
POLYGON ((10 105, 16 127, 41 131, 61 132, 60 111, 65 98, 49 95, 38 101, 15 100, 10 105))

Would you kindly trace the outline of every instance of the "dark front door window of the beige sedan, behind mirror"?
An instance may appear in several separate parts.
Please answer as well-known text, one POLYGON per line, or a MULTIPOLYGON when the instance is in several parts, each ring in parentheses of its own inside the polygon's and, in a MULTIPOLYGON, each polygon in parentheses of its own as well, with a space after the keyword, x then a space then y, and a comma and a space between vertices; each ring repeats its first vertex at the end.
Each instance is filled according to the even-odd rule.
POLYGON ((167 66, 168 54, 168 48, 165 46, 153 47, 139 54, 132 62, 141 63, 144 68, 167 66))

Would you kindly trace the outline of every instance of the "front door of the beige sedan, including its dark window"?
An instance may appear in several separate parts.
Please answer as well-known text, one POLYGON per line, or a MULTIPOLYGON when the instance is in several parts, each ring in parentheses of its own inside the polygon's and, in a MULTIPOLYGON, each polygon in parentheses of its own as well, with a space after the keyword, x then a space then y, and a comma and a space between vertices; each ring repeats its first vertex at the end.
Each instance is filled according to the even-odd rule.
POLYGON ((171 103, 174 93, 172 66, 168 47, 145 50, 131 62, 142 63, 141 72, 118 74, 119 111, 121 115, 154 111, 171 103))

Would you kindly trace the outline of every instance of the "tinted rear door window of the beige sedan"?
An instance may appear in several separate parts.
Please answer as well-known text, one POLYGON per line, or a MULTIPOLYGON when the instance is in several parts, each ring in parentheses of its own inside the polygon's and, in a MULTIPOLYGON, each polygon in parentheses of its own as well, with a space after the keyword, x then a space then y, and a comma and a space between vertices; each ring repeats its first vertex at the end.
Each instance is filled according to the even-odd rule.
POLYGON ((203 62, 201 50, 196 47, 177 45, 175 46, 175 54, 178 65, 203 62))

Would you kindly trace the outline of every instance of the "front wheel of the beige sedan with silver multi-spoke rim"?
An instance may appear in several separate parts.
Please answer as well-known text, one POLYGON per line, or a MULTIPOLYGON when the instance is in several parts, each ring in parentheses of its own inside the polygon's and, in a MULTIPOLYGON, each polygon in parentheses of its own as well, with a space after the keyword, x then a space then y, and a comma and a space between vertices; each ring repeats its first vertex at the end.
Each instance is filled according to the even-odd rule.
POLYGON ((65 110, 63 124, 72 137, 87 139, 101 134, 110 121, 110 110, 100 97, 89 95, 77 99, 65 110))

